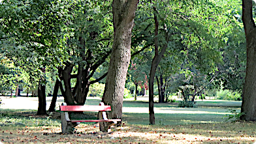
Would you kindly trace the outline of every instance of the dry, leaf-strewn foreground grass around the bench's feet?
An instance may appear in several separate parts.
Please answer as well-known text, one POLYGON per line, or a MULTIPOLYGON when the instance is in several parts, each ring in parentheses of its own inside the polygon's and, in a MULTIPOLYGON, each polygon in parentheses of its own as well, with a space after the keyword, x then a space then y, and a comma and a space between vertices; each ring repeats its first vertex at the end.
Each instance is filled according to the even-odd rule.
POLYGON ((148 125, 127 124, 99 132, 98 124, 82 123, 75 134, 61 134, 58 113, 35 116, 36 111, 1 111, 1 143, 255 143, 255 122, 148 125))

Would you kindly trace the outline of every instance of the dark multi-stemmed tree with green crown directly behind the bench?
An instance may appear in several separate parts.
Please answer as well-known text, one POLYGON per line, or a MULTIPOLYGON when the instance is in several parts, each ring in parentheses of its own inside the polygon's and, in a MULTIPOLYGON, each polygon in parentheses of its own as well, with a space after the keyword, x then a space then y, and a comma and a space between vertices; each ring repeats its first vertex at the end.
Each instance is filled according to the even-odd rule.
POLYGON ((111 53, 113 28, 109 10, 109 1, 97 1, 97 5, 92 1, 79 1, 72 8, 74 19, 69 29, 74 35, 65 50, 70 58, 59 68, 63 82, 60 90, 67 105, 84 105, 89 86, 106 76, 101 68, 108 65, 111 53), (100 74, 97 71, 101 71, 100 74))

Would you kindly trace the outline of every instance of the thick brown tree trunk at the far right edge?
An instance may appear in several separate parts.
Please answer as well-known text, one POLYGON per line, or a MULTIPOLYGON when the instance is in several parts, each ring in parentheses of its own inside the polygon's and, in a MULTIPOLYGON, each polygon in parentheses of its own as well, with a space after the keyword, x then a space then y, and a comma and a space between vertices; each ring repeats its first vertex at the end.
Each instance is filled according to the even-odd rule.
POLYGON ((253 20, 252 1, 242 1, 242 20, 246 32, 247 64, 246 79, 243 89, 243 100, 240 119, 256 121, 256 28, 253 20))

